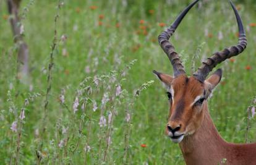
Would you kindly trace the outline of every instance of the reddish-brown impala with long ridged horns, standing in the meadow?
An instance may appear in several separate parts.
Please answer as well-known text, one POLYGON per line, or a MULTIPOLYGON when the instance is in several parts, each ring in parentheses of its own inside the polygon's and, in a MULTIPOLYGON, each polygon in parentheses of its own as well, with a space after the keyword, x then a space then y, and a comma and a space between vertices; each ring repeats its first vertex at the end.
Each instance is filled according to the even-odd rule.
POLYGON ((247 45, 242 20, 233 2, 229 1, 239 29, 238 44, 208 57, 191 77, 186 75, 179 55, 168 41, 197 2, 187 6, 173 25, 158 36, 174 70, 174 77, 153 70, 167 88, 170 108, 166 134, 174 143, 179 143, 186 164, 221 164, 223 159, 226 160, 224 164, 256 164, 256 143, 234 144, 223 140, 211 120, 207 105, 211 91, 221 80, 222 71, 218 69, 208 78, 207 75, 217 64, 242 53, 247 45))

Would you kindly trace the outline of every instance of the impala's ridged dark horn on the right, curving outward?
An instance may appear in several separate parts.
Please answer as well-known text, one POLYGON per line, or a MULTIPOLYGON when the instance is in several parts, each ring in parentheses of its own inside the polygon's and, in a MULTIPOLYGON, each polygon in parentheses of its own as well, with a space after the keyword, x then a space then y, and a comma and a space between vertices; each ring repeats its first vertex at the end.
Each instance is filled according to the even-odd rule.
POLYGON ((213 68, 220 64, 221 62, 229 59, 230 57, 237 56, 238 54, 242 53, 247 46, 247 40, 244 32, 244 27, 242 25, 242 20, 234 6, 233 2, 229 0, 234 14, 236 15, 238 30, 239 30, 239 38, 238 44, 235 46, 231 46, 230 48, 226 48, 223 51, 216 52, 213 56, 209 57, 207 61, 202 62, 202 66, 198 68, 197 72, 194 73, 194 77, 203 82, 207 75, 213 70, 213 68))

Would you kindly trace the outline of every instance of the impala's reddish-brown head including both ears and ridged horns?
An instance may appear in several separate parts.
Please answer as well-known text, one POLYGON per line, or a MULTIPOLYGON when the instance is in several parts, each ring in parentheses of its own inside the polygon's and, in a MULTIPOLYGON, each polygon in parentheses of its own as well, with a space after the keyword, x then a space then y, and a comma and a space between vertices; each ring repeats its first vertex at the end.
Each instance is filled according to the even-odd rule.
POLYGON ((181 64, 179 55, 168 40, 187 12, 189 12, 197 2, 198 0, 186 7, 174 21, 173 25, 158 36, 161 48, 163 48, 164 52, 167 54, 174 70, 174 77, 153 70, 154 74, 157 75, 167 89, 169 117, 168 123, 166 124, 166 134, 174 143, 179 143, 184 136, 196 132, 202 124, 203 109, 207 106, 207 99, 211 91, 213 91, 220 82, 222 71, 218 69, 208 78, 207 75, 217 64, 242 53, 247 45, 242 20, 236 7, 234 7, 234 4, 230 1, 234 14, 236 15, 239 29, 239 43, 236 46, 231 46, 208 57, 206 61, 202 62, 202 66, 198 68, 197 72, 191 77, 188 77, 181 64))

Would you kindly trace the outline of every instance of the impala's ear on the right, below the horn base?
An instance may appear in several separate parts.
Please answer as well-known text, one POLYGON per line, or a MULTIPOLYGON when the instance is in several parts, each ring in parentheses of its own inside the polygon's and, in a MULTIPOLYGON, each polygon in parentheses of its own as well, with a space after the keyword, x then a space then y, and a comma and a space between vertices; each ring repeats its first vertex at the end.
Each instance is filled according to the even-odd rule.
POLYGON ((222 77, 222 70, 216 70, 212 75, 210 75, 207 80, 205 80, 205 87, 210 95, 211 91, 220 83, 222 77))

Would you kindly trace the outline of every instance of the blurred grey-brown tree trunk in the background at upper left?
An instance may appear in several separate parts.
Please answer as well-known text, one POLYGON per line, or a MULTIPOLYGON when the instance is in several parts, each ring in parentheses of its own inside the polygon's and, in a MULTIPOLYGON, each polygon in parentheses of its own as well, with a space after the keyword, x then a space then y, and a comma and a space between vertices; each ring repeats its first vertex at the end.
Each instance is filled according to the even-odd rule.
POLYGON ((23 41, 22 24, 20 23, 19 7, 22 0, 7 0, 7 7, 10 14, 10 23, 14 34, 14 42, 18 46, 17 57, 17 78, 23 83, 28 83, 28 46, 23 41))

